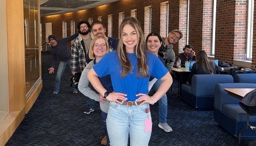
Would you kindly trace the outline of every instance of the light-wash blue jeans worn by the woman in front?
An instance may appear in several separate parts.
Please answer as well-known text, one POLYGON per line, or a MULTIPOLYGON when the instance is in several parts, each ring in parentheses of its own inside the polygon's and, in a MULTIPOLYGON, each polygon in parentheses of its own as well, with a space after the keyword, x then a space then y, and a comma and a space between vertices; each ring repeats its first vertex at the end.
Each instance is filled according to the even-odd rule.
POLYGON ((151 113, 145 112, 147 108, 150 108, 147 103, 128 107, 110 102, 106 127, 108 128, 111 146, 127 146, 129 134, 131 146, 148 145, 151 131, 145 132, 145 119, 151 118, 151 113))

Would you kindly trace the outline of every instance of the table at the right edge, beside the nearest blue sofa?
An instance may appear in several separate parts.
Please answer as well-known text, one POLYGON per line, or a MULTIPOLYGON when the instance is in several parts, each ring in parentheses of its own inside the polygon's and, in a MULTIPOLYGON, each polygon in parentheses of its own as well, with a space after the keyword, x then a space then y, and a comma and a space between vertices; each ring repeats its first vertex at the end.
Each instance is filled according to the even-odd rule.
POLYGON ((230 96, 241 100, 248 92, 254 89, 255 88, 225 88, 224 90, 227 91, 230 96))

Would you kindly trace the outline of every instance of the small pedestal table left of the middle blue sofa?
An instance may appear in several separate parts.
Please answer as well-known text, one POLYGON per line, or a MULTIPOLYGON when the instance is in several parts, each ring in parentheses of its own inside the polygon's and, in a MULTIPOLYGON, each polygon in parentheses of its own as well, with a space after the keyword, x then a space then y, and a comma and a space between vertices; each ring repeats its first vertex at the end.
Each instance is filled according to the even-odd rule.
POLYGON ((178 80, 178 95, 181 95, 181 85, 187 82, 190 71, 186 71, 185 67, 173 67, 171 74, 178 80))

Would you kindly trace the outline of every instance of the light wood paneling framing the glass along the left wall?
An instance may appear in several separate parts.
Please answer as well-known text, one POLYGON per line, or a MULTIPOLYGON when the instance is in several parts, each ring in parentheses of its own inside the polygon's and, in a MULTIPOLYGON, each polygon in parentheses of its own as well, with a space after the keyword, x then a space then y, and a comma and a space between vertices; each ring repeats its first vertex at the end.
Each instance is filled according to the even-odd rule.
MULTIPOLYGON (((38 0, 39 2, 39 0, 38 0)), ((38 7, 39 7, 39 3, 38 7)), ((6 13, 0 13, 2 18, 0 27, 1 39, 5 40, 6 44, 2 44, 1 53, 5 52, 2 63, 6 63, 8 70, 4 76, 7 79, 2 82, 2 86, 9 87, 7 93, 2 94, 1 98, 9 100, 9 114, 0 124, 0 145, 5 145, 12 136, 18 125, 25 117, 25 113, 29 111, 42 88, 42 81, 40 80, 36 88, 26 101, 26 83, 25 83, 25 42, 24 42, 24 17, 23 17, 23 0, 6 0, 0 1, 0 5, 6 13), (4 38, 2 38, 4 36, 4 38), (7 45, 8 44, 8 45, 7 45), (7 61, 4 61, 6 59, 7 61), (25 108, 25 104, 27 104, 25 108), (27 111, 26 111, 27 110, 27 111)), ((2 11, 0 11, 2 12, 2 11)), ((40 20, 38 20, 40 23, 40 20)), ((39 28, 38 28, 39 32, 39 28)), ((38 38, 39 33, 38 33, 38 38)), ((40 46, 40 39, 39 39, 40 46)), ((2 57, 2 56, 1 56, 2 57)), ((39 53, 40 59, 40 53, 39 53)), ((1 64, 2 65, 2 64, 1 64)), ((3 65, 4 66, 4 65, 3 65)), ((2 67, 3 67, 2 66, 2 67)), ((39 68, 41 62, 39 61, 39 68)), ((39 70, 40 71, 40 70, 39 70)), ((3 71, 4 72, 4 71, 3 71)), ((39 73, 41 76, 41 73, 39 73)), ((2 75, 2 74, 1 74, 2 75)))

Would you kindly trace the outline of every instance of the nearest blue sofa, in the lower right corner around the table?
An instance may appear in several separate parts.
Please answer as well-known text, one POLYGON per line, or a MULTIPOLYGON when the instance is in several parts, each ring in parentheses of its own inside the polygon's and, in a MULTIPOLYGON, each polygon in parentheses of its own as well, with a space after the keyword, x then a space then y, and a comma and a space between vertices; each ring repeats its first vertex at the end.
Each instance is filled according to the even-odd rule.
MULTIPOLYGON (((246 127, 246 112, 240 107, 240 100, 228 95, 224 88, 256 88, 251 83, 217 84, 215 88, 214 120, 234 136, 246 127)), ((250 124, 256 125, 256 116, 250 116, 250 124)), ((255 131, 248 129, 242 133, 242 139, 256 138, 255 131), (246 138, 245 138, 246 137, 246 138)))

